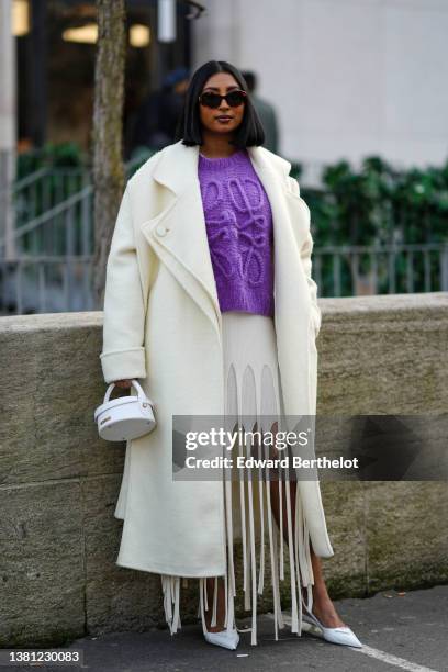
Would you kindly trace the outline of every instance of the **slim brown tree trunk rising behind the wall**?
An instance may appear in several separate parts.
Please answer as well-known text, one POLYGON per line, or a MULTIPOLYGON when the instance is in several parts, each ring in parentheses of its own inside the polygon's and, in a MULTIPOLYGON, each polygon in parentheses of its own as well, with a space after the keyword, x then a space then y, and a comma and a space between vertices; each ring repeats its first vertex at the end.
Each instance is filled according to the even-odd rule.
POLYGON ((93 104, 93 301, 102 310, 113 227, 124 189, 123 91, 126 54, 124 0, 97 0, 98 51, 93 104))

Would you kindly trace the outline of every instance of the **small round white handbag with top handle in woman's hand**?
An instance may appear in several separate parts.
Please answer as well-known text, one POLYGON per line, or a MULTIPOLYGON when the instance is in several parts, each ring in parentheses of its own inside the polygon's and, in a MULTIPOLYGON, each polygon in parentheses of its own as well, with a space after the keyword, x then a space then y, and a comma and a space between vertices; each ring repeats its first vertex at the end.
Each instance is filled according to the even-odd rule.
POLYGON ((132 384, 137 396, 119 396, 110 401, 115 383, 111 383, 105 392, 103 403, 94 411, 98 433, 107 441, 125 441, 148 434, 156 426, 154 403, 148 399, 142 385, 135 380, 132 384))

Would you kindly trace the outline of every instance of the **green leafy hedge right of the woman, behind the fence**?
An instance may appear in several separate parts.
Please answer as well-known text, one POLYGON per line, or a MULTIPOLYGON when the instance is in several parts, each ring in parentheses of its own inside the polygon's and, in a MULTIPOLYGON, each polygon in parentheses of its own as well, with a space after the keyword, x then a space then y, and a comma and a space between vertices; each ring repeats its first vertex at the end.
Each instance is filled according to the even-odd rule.
MULTIPOLYGON (((301 164, 293 165, 300 181, 301 164)), ((327 166, 323 190, 303 188, 316 246, 448 240, 448 160, 440 168, 396 170, 368 157, 327 166)))

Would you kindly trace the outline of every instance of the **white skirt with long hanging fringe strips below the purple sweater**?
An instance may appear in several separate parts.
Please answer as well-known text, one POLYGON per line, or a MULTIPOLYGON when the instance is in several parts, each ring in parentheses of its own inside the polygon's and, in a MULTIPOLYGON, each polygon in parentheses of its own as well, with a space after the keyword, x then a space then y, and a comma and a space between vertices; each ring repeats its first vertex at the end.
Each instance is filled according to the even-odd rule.
MULTIPOLYGON (((283 413, 281 384, 277 359, 276 331, 271 317, 237 311, 225 312, 223 318, 223 359, 225 381, 225 417, 237 418, 238 427, 246 432, 271 430, 272 419, 283 413), (242 422, 243 421, 243 422, 242 422), (255 427, 255 424, 257 426, 255 427), (250 426, 246 426, 250 425, 250 426)), ((275 421, 273 421, 275 422, 275 421)), ((234 426, 234 423, 231 423, 234 426)), ((232 427, 226 427, 232 429, 232 427)), ((280 427, 278 427, 280 428, 280 427)), ((276 427, 273 427, 273 433, 276 427)), ((237 455, 258 457, 275 456, 272 448, 258 445, 237 445, 237 455)), ((236 456, 229 455, 236 463, 236 456)), ((235 469, 235 467, 234 467, 235 469)), ((306 605, 312 608, 314 582, 310 557, 310 535, 304 519, 299 488, 296 488, 294 512, 292 511, 291 483, 284 469, 276 472, 280 513, 277 523, 271 497, 271 479, 264 469, 249 478, 237 469, 237 474, 223 479, 226 527, 225 627, 235 627, 234 598, 237 591, 244 592, 244 607, 251 611, 251 645, 257 645, 257 595, 262 595, 268 584, 272 591, 275 638, 279 628, 284 628, 280 601, 280 582, 284 581, 285 557, 289 562, 289 593, 291 603, 291 632, 302 635, 302 589, 306 589, 306 605), (293 515, 294 513, 294 515, 293 515), (284 541, 284 535, 287 540, 284 541), (243 582, 235 580, 234 541, 242 540, 243 582), (269 550, 266 551, 266 547, 269 550), (257 553, 258 549, 258 553, 257 553), (269 558, 266 558, 266 552, 269 558), (269 563, 269 575, 265 565, 269 563)), ((214 578, 213 611, 211 626, 216 625, 217 576, 214 578)), ((180 586, 188 585, 191 578, 161 574, 165 617, 171 634, 181 627, 179 600, 180 586)), ((209 611, 206 578, 199 580, 198 616, 205 629, 204 609, 209 611)), ((240 630, 247 631, 247 629, 240 630)))

